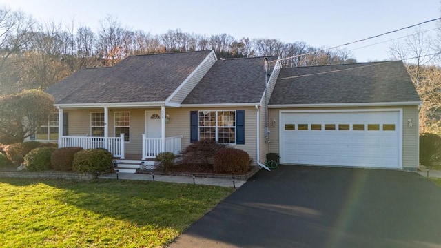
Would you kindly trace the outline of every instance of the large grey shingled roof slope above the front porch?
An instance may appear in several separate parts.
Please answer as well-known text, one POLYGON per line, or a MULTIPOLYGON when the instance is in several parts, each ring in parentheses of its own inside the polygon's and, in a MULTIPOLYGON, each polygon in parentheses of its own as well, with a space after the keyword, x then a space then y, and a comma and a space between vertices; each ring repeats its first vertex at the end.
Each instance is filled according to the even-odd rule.
POLYGON ((56 104, 165 101, 210 52, 129 56, 112 68, 79 70, 46 92, 56 104))

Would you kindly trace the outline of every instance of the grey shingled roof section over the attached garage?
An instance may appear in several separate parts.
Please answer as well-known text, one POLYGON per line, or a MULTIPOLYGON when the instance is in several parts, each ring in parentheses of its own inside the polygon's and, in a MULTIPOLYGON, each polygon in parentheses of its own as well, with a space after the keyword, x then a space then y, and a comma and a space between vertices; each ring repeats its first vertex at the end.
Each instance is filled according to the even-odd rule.
POLYGON ((269 105, 419 102, 402 61, 283 68, 269 105))

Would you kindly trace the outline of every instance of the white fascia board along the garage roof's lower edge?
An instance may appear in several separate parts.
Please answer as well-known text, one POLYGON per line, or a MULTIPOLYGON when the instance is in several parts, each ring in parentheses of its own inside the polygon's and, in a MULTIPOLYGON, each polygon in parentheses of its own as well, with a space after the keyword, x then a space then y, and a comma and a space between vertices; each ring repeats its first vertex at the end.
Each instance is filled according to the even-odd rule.
POLYGON ((390 102, 390 103, 318 103, 318 104, 271 104, 269 108, 292 107, 384 107, 384 106, 412 106, 420 105, 420 101, 390 102))

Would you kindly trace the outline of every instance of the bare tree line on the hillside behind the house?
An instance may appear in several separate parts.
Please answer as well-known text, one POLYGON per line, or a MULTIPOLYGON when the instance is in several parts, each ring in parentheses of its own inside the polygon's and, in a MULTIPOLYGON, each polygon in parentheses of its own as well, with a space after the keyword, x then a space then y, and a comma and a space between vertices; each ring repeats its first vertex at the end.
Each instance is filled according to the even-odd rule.
MULTIPOLYGON (((284 66, 353 63, 347 50, 322 50, 305 42, 235 39, 229 34, 168 30, 150 34, 124 28, 108 16, 93 32, 88 26, 39 23, 24 12, 0 7, 0 95, 45 89, 81 68, 112 66, 130 55, 214 50, 219 58, 278 55, 284 66), (309 54, 307 56, 298 56, 309 54)), ((147 28, 147 27, 146 27, 147 28)))

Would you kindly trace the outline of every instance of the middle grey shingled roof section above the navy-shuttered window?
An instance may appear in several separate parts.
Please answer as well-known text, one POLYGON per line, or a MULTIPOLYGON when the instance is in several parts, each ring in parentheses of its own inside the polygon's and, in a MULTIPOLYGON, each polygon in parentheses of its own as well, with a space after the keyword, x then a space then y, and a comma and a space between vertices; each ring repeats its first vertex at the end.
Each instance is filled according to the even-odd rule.
MULTIPOLYGON (((276 59, 268 57, 270 61, 276 59)), ((259 103, 264 92, 264 57, 220 59, 183 104, 259 103)))

